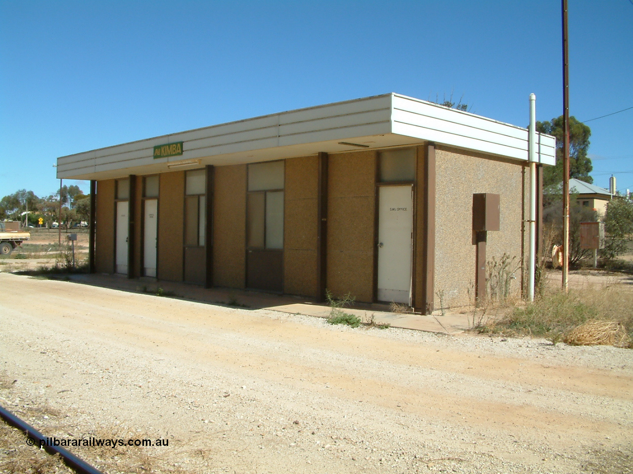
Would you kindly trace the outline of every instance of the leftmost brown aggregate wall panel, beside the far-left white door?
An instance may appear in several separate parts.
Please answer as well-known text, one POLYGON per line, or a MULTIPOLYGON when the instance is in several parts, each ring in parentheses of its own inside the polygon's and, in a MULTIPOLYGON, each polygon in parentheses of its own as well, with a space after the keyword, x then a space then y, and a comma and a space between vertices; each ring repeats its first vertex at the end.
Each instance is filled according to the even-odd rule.
POLYGON ((115 180, 97 181, 94 267, 97 273, 115 272, 115 180))

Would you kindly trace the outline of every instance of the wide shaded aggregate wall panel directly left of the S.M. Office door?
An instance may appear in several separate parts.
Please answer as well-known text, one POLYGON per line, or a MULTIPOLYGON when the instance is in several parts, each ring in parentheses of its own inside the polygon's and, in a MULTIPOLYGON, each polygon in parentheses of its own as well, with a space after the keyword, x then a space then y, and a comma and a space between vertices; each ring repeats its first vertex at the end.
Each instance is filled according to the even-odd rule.
POLYGON ((327 289, 373 300, 376 152, 329 155, 327 289))

